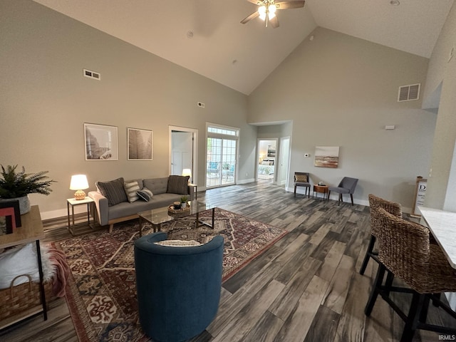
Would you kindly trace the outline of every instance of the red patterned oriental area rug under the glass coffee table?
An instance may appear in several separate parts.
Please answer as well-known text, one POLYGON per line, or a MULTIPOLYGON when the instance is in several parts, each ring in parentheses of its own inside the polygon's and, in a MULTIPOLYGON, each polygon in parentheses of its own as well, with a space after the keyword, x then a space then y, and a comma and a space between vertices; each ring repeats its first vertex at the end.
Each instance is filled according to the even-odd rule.
MULTIPOLYGON (((211 221, 212 211, 202 212, 211 221)), ((162 224, 168 239, 194 239, 205 243, 217 234, 224 237, 223 281, 271 247, 286 234, 223 209, 215 209, 214 229, 195 229, 195 217, 162 224)), ((146 226, 142 234, 150 234, 146 226)), ((56 242, 71 269, 66 299, 79 341, 148 341, 138 321, 133 247, 138 222, 116 224, 113 233, 93 232, 56 242)))

